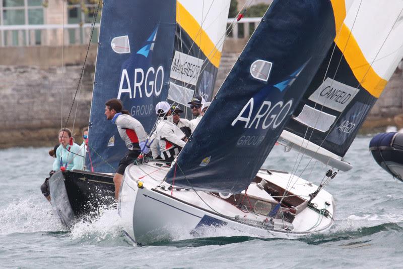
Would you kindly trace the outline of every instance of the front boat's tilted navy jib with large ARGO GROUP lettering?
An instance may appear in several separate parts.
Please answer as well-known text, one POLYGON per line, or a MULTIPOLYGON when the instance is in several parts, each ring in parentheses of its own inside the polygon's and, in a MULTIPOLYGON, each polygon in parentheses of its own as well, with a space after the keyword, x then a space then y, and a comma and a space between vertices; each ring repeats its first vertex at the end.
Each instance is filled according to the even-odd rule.
POLYGON ((254 179, 335 36, 330 1, 274 1, 167 174, 237 193, 254 179))

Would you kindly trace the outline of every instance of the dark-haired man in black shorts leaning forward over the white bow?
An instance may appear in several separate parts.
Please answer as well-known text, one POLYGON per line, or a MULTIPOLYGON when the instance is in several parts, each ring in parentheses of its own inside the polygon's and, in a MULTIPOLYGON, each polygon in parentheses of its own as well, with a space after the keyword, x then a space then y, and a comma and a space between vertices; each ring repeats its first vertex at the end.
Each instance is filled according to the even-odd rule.
POLYGON ((105 115, 107 120, 116 124, 120 137, 125 142, 128 151, 119 162, 119 167, 113 177, 115 183, 115 198, 118 198, 120 184, 123 179, 124 170, 134 162, 142 153, 148 153, 150 148, 146 145, 147 133, 143 125, 123 110, 122 102, 119 99, 110 99, 105 103, 105 115))

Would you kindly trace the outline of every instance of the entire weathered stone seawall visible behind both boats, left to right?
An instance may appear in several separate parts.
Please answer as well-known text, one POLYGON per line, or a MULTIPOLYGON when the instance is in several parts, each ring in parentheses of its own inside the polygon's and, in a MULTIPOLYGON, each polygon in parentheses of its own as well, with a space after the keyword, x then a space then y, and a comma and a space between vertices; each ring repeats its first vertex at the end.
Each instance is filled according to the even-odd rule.
MULTIPOLYGON (((224 81, 246 40, 226 42, 215 85, 224 81)), ((66 48, 61 68, 61 49, 2 48, 0 53, 0 148, 43 146, 57 143, 57 131, 64 126, 82 70, 86 46, 66 48), (66 52, 70 51, 70 52, 66 52), (20 54, 26 56, 24 57, 20 54), (9 56, 8 56, 9 55, 9 56), (18 56, 16 56, 18 55, 18 56), (69 56, 70 55, 70 56, 69 56), (16 57, 13 62, 10 60, 16 57), (58 58, 57 58, 58 57, 58 58), (36 60, 35 60, 36 59, 36 60), (37 63, 35 65, 35 63, 37 63), (61 83, 63 78, 63 84, 61 83), (63 120, 61 121, 61 117, 63 120)), ((95 71, 96 47, 91 47, 83 83, 77 93, 68 127, 74 128, 77 142, 80 130, 88 125, 95 71)), ((397 125, 394 117, 403 113, 403 73, 397 69, 373 107, 362 132, 384 131, 397 125)))

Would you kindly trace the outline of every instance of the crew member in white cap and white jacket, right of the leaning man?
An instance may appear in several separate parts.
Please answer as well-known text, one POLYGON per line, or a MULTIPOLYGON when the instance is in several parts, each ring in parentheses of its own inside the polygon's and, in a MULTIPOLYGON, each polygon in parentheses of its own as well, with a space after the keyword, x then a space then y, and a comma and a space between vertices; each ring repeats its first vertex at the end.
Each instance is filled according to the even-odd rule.
POLYGON ((152 144, 150 146, 154 159, 163 159, 166 162, 172 162, 179 154, 182 147, 185 146, 185 134, 168 118, 171 115, 171 106, 168 102, 159 102, 155 106, 159 120, 155 132, 151 136, 152 144), (161 154, 158 154, 158 146, 161 154))

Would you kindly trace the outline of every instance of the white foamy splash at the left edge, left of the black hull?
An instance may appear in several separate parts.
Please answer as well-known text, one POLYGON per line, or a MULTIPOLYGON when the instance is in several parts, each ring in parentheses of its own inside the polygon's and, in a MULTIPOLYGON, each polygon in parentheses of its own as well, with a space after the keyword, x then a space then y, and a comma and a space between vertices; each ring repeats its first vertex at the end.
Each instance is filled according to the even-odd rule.
POLYGON ((41 198, 16 198, 0 208, 0 234, 66 231, 50 204, 41 198))

